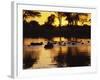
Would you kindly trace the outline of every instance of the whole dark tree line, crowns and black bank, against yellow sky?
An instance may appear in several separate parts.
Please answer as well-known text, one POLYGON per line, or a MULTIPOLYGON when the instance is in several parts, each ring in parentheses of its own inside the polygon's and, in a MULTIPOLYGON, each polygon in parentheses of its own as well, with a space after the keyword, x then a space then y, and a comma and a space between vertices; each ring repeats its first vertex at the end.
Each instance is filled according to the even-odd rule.
MULTIPOLYGON (((47 21, 40 25, 37 21, 27 22, 26 18, 31 17, 41 17, 40 12, 24 10, 23 11, 23 36, 24 37, 79 37, 79 38, 90 38, 90 26, 84 25, 79 27, 77 24, 79 20, 79 15, 88 16, 86 13, 64 13, 55 12, 57 16, 51 14, 48 16, 47 21), (62 26, 62 17, 67 16, 66 20, 68 25, 62 26), (58 18, 59 26, 53 26, 54 19, 58 18)), ((83 21, 84 22, 84 21, 83 21)))

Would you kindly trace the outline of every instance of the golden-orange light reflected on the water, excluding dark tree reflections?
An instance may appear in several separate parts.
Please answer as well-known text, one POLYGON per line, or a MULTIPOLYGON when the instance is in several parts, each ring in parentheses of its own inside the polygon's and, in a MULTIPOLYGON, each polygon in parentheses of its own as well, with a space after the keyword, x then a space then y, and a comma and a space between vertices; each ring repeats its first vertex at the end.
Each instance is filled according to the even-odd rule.
MULTIPOLYGON (((59 38, 53 38, 54 41, 59 41, 59 38)), ((65 38, 62 38, 63 41, 68 41, 65 38)), ((86 43, 90 39, 78 39, 78 41, 82 40, 86 43)), ((23 57, 25 58, 27 55, 30 55, 32 58, 37 59, 36 63, 34 63, 31 68, 48 68, 48 67, 57 67, 56 61, 54 60, 56 56, 60 54, 66 55, 68 54, 69 46, 57 46, 52 49, 45 49, 43 45, 41 46, 30 46, 32 42, 45 42, 47 39, 43 38, 25 38, 24 39, 24 49, 23 49, 23 57)), ((87 43, 86 43, 87 44, 87 43)), ((72 55, 77 55, 77 51, 81 54, 85 54, 90 56, 90 45, 81 45, 70 48, 72 55)))

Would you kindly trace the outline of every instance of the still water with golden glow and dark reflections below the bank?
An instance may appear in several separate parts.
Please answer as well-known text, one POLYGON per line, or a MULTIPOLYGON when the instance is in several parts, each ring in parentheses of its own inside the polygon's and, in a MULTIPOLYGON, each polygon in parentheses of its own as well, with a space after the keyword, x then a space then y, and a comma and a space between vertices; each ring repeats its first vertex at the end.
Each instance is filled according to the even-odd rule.
MULTIPOLYGON (((58 37, 53 41, 65 41, 68 39, 58 37)), ((79 67, 91 65, 90 39, 77 39, 81 41, 80 45, 57 45, 53 48, 44 48, 48 39, 44 38, 24 38, 23 41, 23 68, 39 69, 53 67, 79 67), (31 43, 40 43, 42 45, 31 45, 31 43)))

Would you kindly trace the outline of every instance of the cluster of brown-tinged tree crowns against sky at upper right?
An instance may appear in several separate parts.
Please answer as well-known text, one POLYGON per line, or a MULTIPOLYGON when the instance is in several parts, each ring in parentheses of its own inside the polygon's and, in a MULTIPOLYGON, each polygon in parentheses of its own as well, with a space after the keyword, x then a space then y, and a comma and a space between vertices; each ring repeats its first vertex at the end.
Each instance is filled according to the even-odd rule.
MULTIPOLYGON (((66 13, 66 12, 56 12, 58 15, 59 26, 61 26, 62 17, 66 17, 68 21, 68 26, 78 26, 78 21, 81 21, 82 24, 87 21, 88 14, 87 13, 66 13), (85 18, 81 18, 80 16, 84 16, 85 18)), ((89 20, 90 21, 90 20, 89 20)))

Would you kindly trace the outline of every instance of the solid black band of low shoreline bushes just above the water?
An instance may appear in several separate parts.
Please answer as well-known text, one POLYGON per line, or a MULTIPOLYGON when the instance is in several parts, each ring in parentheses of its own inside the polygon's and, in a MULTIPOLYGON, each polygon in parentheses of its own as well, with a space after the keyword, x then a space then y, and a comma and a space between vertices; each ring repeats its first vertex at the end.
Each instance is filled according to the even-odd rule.
POLYGON ((39 25, 38 22, 32 21, 30 23, 23 22, 23 37, 24 38, 53 38, 53 37, 65 37, 65 38, 90 38, 91 27, 88 25, 77 26, 67 25, 61 27, 55 27, 53 25, 39 25))

